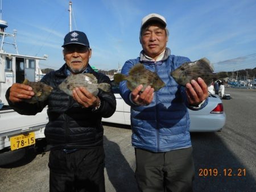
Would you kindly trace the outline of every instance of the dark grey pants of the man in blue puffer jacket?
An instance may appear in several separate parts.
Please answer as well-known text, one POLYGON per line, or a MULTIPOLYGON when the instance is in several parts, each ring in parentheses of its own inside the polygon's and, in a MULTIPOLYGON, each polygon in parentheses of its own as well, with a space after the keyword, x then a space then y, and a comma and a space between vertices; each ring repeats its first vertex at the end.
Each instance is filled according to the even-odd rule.
POLYGON ((140 191, 193 191, 192 147, 154 153, 135 148, 135 177, 140 191))

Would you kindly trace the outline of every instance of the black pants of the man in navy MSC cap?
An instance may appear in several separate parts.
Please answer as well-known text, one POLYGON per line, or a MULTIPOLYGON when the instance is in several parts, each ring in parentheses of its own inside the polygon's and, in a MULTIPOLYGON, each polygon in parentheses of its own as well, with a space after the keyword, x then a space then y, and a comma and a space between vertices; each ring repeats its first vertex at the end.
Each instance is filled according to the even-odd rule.
POLYGON ((103 146, 71 153, 51 151, 48 166, 50 191, 105 191, 103 146))

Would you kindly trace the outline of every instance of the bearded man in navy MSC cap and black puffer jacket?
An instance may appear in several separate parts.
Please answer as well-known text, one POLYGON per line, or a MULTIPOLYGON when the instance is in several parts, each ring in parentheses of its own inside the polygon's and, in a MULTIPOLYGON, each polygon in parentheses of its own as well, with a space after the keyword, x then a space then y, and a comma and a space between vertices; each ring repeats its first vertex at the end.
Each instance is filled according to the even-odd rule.
POLYGON ((6 99, 15 111, 24 115, 35 115, 48 105, 49 122, 44 134, 51 146, 50 191, 105 191, 101 118, 108 118, 115 111, 113 91, 99 90, 94 96, 85 87, 76 87, 70 97, 58 86, 68 76, 79 73, 92 73, 99 84, 104 82, 111 86, 110 79, 89 65, 92 50, 84 32, 69 32, 62 47, 65 64, 41 80, 53 87, 46 101, 24 102, 23 99, 35 93, 23 84, 13 84, 6 92, 6 99))

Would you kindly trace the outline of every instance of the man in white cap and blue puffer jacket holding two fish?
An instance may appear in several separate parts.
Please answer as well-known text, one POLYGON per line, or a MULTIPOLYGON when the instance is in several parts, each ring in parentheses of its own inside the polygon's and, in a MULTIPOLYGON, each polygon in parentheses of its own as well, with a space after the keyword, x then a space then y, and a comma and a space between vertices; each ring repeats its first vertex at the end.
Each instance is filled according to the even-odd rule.
POLYGON ((185 87, 170 72, 187 57, 171 55, 166 19, 149 14, 142 19, 139 39, 143 50, 137 59, 123 65, 127 75, 135 64, 158 76, 166 84, 158 91, 139 85, 133 91, 120 82, 122 98, 131 106, 132 144, 135 147, 135 177, 140 191, 192 191, 195 168, 189 134, 188 108, 200 110, 208 103, 208 87, 201 78, 185 87))

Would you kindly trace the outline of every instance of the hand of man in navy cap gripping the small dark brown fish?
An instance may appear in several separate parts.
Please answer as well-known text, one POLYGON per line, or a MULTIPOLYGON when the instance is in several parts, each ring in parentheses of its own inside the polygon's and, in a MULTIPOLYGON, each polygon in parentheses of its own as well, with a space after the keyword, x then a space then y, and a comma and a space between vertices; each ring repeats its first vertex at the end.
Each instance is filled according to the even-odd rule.
POLYGON ((30 99, 34 96, 32 87, 24 84, 13 84, 10 89, 9 99, 11 102, 21 102, 22 99, 30 99))

